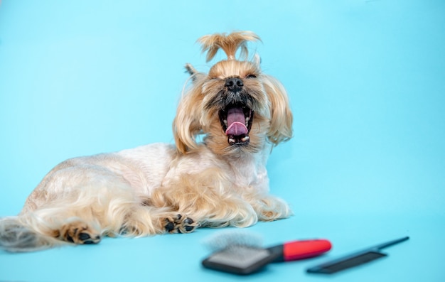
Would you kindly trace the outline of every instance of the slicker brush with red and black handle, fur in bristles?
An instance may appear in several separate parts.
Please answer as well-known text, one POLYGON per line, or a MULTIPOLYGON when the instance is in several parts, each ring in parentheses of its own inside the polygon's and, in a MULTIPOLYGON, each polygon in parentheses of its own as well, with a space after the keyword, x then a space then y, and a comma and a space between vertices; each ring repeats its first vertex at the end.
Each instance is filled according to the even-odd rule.
POLYGON ((202 261, 205 268, 246 275, 272 262, 318 256, 329 251, 332 245, 325 239, 313 239, 286 242, 264 249, 258 244, 258 237, 237 233, 218 236, 215 242, 210 241, 210 246, 216 251, 202 261))

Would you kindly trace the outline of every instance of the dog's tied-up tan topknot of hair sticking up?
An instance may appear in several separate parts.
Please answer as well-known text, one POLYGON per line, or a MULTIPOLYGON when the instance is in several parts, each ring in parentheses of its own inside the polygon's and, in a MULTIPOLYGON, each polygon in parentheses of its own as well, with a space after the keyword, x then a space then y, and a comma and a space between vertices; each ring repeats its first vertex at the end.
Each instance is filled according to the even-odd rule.
POLYGON ((207 52, 206 62, 212 60, 220 48, 227 55, 227 60, 235 60, 235 53, 239 48, 241 48, 240 56, 247 58, 248 41, 261 41, 261 39, 252 31, 235 31, 228 35, 215 33, 198 39, 203 53, 207 52))

